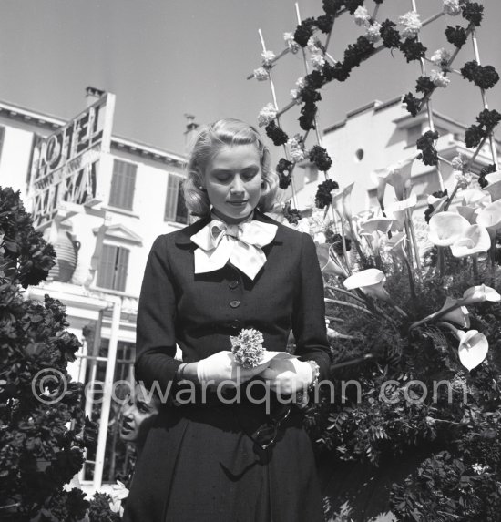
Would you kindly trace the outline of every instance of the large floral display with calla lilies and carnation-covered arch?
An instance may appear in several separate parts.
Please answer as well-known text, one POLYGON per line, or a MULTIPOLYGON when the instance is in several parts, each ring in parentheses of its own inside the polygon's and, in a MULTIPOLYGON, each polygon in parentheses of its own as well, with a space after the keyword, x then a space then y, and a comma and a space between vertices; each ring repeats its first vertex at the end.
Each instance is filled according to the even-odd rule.
POLYGON ((323 0, 323 13, 304 20, 296 5, 298 25, 284 35, 281 53, 266 48, 260 31, 262 63, 249 77, 271 86, 272 102, 258 123, 283 149, 276 169, 281 189, 291 190, 283 213, 292 227, 312 234, 325 281, 333 385, 305 422, 318 452, 331 457, 332 473, 321 469, 330 520, 374 520, 391 509, 387 517, 397 520, 494 522, 501 513, 501 173, 494 138, 501 114, 487 103, 499 76, 481 65, 476 39, 484 6, 444 0, 422 20, 411 0, 407 12, 399 3, 403 13, 392 21, 378 18, 382 4, 323 0), (451 22, 434 52, 421 41, 421 29, 442 16, 451 22), (339 23, 363 30, 341 53, 329 46, 339 23), (468 42, 473 56, 461 52, 468 42), (384 49, 419 66, 414 91, 402 103, 413 117, 425 111, 428 128, 413 157, 376 173, 377 208, 355 215, 353 184, 338 186, 322 147, 318 107, 322 87, 348 81, 354 67, 384 49), (305 74, 281 108, 275 67, 298 53, 305 74), (455 66, 460 59, 463 65, 455 66), (435 147, 431 100, 436 89, 461 78, 478 87, 482 107, 465 131, 468 154, 448 160, 435 147), (301 130, 287 132, 281 117, 294 107, 301 130), (312 135, 316 142, 307 145, 312 135), (475 173, 486 149, 492 163, 475 173), (325 179, 318 210, 302 217, 294 208, 294 169, 305 159, 325 179), (415 210, 417 161, 435 169, 440 188, 428 195, 424 212, 415 210), (455 173, 449 190, 445 165, 455 173), (390 186, 395 201, 385 208, 390 186))

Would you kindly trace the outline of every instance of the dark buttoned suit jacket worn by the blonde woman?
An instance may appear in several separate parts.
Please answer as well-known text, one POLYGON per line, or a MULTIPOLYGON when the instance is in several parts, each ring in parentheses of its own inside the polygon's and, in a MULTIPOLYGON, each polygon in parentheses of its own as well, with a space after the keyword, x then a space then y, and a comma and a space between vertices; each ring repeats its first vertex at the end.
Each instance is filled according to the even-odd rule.
POLYGON ((255 211, 254 219, 278 226, 263 248, 267 261, 254 281, 233 266, 194 274, 190 236, 209 218, 159 236, 148 257, 138 306, 136 376, 162 390, 185 363, 230 350, 230 335, 255 328, 271 351, 285 351, 292 329, 303 361, 327 377, 331 352, 326 337, 323 283, 312 238, 255 211))

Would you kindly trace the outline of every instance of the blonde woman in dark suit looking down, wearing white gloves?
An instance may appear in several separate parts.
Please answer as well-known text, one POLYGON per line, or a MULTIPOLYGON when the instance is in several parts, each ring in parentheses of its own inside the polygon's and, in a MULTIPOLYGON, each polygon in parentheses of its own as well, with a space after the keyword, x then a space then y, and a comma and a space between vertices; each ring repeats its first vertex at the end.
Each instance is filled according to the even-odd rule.
POLYGON ((328 374, 322 275, 311 237, 262 213, 276 185, 254 128, 221 119, 200 131, 184 190, 201 219, 155 241, 141 289, 137 378, 174 401, 149 432, 125 520, 323 520, 301 412, 281 404, 328 374), (230 352, 242 328, 283 354, 242 368, 230 352), (297 357, 285 353, 291 329, 297 357))

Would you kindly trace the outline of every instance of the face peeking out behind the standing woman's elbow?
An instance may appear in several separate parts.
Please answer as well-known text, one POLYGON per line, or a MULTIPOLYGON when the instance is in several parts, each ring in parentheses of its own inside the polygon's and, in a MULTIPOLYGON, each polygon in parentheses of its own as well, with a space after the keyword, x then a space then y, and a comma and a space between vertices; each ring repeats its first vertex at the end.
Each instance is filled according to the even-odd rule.
POLYGON ((130 394, 128 403, 124 404, 120 428, 120 438, 123 441, 144 443, 153 419, 158 415, 158 397, 154 395, 150 397, 151 400, 148 400, 150 394, 145 392, 142 386, 136 384, 134 394, 130 394))

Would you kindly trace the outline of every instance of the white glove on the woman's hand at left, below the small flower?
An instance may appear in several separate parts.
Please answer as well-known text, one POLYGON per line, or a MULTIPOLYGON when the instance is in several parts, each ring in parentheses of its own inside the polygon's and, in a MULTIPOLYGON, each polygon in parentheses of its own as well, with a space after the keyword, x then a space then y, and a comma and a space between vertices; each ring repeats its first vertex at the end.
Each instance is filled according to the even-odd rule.
POLYGON ((214 353, 197 363, 197 377, 200 384, 206 386, 218 386, 223 381, 231 382, 237 386, 249 381, 254 375, 261 372, 268 366, 270 361, 261 363, 255 368, 243 368, 235 363, 233 353, 223 351, 214 353))

